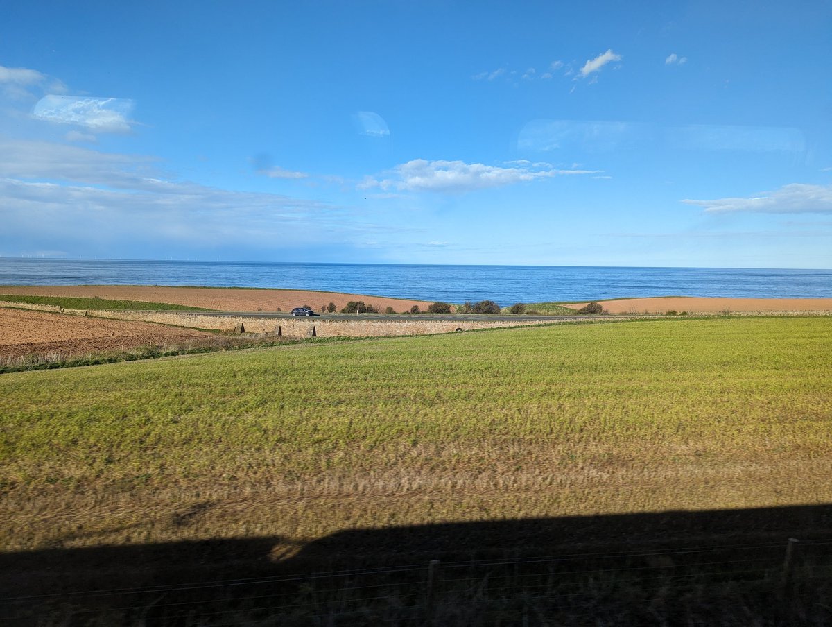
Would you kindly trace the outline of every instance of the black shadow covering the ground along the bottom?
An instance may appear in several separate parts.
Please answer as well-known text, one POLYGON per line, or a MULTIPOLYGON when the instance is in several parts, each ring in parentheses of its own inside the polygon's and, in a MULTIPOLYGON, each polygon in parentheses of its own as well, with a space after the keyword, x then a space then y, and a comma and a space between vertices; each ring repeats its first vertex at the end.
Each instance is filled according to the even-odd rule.
POLYGON ((0 625, 381 623, 830 625, 832 505, 0 554, 0 625))

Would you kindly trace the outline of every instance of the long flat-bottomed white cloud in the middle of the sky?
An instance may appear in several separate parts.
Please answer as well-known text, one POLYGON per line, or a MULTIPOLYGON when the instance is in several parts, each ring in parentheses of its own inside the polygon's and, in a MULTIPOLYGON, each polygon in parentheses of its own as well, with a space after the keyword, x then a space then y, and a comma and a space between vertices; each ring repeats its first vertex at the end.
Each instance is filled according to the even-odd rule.
POLYGON ((541 178, 571 174, 596 174, 589 170, 536 169, 518 163, 518 167, 486 166, 462 161, 427 161, 414 159, 388 173, 387 177, 366 177, 359 189, 379 188, 399 192, 471 192, 488 187, 503 187, 541 178))

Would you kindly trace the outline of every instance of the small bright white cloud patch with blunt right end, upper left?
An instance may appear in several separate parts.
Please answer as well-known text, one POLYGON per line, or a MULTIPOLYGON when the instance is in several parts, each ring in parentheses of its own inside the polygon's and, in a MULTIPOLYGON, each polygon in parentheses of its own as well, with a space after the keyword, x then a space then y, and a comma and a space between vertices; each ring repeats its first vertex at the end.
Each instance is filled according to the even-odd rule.
POLYGON ((127 132, 133 102, 124 98, 78 96, 42 97, 32 112, 47 122, 76 124, 94 132, 127 132))

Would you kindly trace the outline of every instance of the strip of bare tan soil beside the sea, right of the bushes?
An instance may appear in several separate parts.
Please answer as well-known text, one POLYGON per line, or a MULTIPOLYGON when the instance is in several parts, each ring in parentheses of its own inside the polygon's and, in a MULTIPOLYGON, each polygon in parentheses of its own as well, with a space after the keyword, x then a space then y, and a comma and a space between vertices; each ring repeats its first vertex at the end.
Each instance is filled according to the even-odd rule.
MULTIPOLYGON (((832 298, 703 298, 698 296, 661 296, 659 298, 622 298, 599 301, 610 313, 752 313, 788 311, 830 311, 832 298)), ((570 305, 580 309, 587 303, 570 305)))

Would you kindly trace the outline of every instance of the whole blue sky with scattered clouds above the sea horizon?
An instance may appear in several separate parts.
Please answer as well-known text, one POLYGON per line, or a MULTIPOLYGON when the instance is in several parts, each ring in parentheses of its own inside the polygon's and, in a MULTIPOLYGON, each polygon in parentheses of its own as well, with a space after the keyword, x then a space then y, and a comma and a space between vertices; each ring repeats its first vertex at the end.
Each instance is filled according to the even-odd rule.
POLYGON ((0 255, 832 267, 830 2, 3 2, 0 255))

